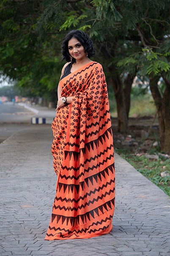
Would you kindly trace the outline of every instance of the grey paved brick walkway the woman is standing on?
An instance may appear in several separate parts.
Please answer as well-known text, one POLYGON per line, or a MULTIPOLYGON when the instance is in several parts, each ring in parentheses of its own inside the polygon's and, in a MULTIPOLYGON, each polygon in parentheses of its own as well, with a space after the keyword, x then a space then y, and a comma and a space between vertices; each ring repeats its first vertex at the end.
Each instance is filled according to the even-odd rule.
POLYGON ((170 199, 115 154, 110 234, 44 240, 55 197, 50 125, 29 125, 0 144, 0 256, 170 255, 170 199))

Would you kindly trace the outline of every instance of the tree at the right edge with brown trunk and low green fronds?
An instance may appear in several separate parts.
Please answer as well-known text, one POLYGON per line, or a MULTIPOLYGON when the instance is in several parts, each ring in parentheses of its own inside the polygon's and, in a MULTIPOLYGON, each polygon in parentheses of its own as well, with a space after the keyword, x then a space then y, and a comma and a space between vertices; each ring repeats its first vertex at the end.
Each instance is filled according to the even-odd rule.
POLYGON ((163 40, 166 42, 163 47, 160 44, 160 47, 156 48, 157 52, 145 48, 143 51, 121 60, 118 65, 123 65, 128 69, 129 65, 137 63, 140 76, 148 75, 150 90, 158 111, 160 146, 162 151, 170 153, 170 72, 168 72, 170 71, 170 53, 167 52, 166 47, 170 40, 168 37, 163 40), (160 51, 164 53, 161 54, 160 51), (161 77, 165 83, 163 91, 159 87, 161 77))

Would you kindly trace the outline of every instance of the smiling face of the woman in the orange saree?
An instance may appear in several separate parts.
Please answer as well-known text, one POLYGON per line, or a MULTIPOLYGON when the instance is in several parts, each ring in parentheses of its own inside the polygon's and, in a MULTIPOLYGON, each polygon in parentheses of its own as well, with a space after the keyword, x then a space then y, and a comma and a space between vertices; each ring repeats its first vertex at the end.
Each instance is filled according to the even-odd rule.
POLYGON ((82 44, 74 37, 72 37, 68 42, 69 54, 75 60, 82 60, 86 57, 85 49, 82 44))

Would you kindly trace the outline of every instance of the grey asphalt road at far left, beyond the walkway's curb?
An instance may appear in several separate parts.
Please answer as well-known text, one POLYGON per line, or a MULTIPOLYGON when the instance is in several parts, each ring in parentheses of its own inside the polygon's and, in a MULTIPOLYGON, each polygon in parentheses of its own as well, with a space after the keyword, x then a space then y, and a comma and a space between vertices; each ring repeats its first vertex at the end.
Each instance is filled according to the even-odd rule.
POLYGON ((0 143, 17 131, 31 126, 31 117, 34 115, 34 112, 17 103, 0 104, 0 143))

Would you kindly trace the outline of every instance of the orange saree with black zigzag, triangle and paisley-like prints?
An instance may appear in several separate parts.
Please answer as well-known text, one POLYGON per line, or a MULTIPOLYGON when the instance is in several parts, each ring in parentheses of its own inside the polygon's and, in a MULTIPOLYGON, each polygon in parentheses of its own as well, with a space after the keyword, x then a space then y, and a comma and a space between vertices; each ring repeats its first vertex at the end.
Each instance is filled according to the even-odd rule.
POLYGON ((61 96, 73 96, 52 123, 58 175, 45 239, 90 238, 112 230, 115 206, 113 139, 102 66, 83 65, 60 80, 61 96))

